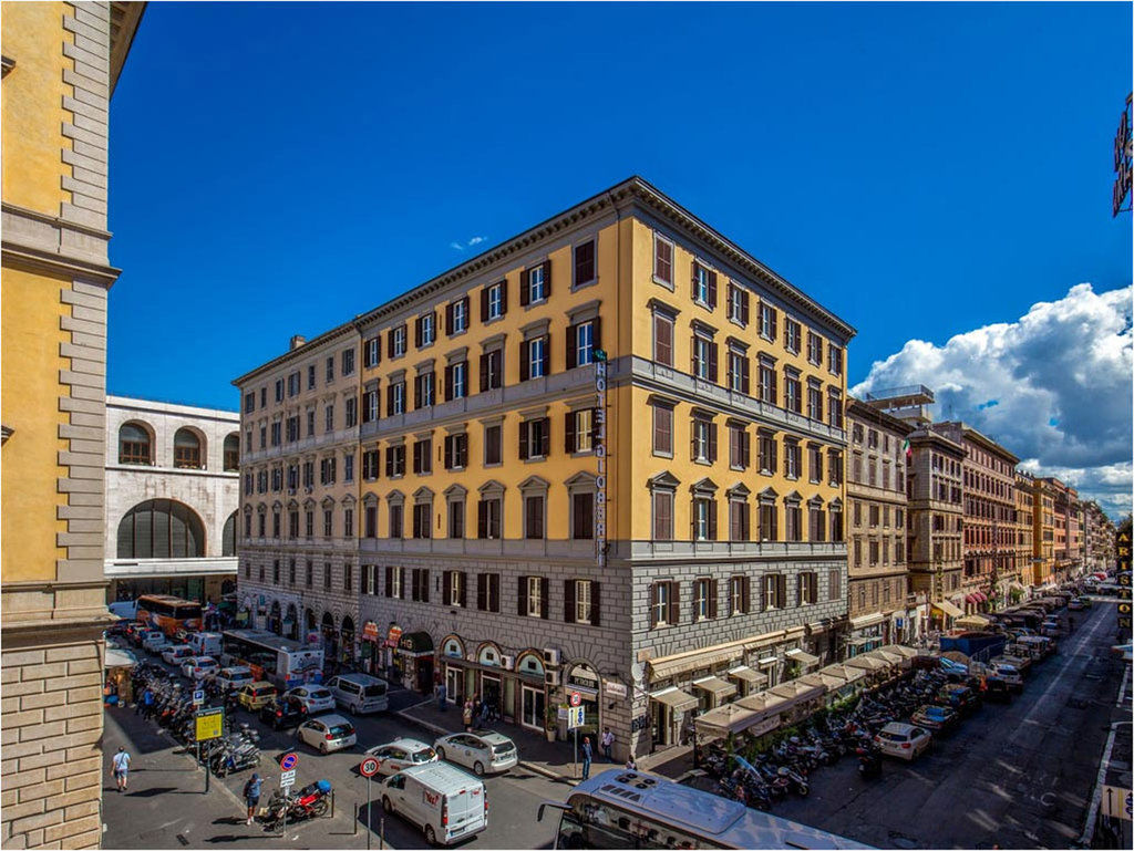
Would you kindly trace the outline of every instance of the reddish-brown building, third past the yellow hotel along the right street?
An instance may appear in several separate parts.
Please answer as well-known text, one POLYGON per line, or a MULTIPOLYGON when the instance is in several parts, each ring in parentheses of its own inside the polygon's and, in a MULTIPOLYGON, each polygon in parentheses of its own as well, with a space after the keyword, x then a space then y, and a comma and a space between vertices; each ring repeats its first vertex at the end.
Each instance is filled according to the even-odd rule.
POLYGON ((966 612, 995 612, 1008 599, 1016 570, 1016 463, 1019 459, 959 422, 932 428, 965 449, 964 576, 966 612))

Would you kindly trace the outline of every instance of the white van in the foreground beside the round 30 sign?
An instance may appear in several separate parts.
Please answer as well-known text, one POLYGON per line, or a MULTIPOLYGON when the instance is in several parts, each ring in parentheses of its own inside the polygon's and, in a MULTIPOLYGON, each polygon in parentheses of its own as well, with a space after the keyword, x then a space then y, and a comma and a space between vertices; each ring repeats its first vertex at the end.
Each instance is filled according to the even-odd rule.
POLYGON ((489 826, 484 784, 447 763, 415 765, 387 777, 382 809, 420 826, 431 845, 450 845, 489 826))

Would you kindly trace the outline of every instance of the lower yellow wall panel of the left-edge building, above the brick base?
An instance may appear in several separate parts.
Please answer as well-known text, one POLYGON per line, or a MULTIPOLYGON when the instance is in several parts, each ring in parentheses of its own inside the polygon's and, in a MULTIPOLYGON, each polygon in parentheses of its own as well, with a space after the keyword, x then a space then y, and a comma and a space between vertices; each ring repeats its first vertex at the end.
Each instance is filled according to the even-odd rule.
MULTIPOLYGON (((5 8, 7 14, 7 6, 5 8)), ((7 46, 5 48, 7 50, 7 46)), ((70 315, 59 293, 67 282, 5 269, 2 281, 3 425, 15 429, 3 446, 3 579, 6 582, 53 579, 56 560, 65 551, 56 546, 56 533, 66 531, 57 519, 57 507, 66 503, 57 479, 66 475, 58 452, 67 448, 59 439, 65 415, 59 411, 59 371, 69 365, 59 357, 67 334, 59 318, 70 315)))

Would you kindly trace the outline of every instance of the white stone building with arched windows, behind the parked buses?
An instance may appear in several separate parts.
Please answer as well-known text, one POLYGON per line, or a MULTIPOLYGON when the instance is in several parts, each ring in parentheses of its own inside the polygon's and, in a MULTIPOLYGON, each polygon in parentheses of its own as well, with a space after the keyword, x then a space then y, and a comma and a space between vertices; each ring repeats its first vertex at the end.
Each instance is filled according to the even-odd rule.
POLYGON ((109 602, 236 590, 240 415, 107 397, 109 602))

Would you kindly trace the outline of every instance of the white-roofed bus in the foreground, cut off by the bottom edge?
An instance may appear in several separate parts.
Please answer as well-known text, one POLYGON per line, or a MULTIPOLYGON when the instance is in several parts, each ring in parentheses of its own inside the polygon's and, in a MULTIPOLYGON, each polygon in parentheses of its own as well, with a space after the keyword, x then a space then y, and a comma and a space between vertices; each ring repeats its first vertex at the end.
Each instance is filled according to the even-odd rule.
POLYGON ((553 848, 864 849, 833 833, 750 809, 654 774, 611 768, 583 781, 559 810, 553 848))

